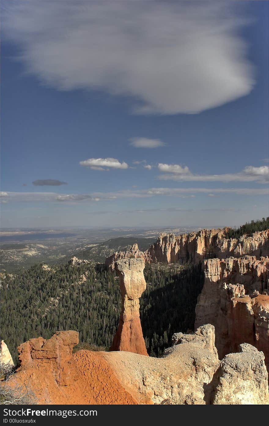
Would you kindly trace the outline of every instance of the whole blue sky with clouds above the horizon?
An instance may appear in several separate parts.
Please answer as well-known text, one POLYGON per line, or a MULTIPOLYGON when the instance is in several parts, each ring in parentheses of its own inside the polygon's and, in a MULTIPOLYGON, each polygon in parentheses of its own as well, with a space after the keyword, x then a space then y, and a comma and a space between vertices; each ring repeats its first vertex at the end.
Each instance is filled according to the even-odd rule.
POLYGON ((268 216, 268 2, 1 2, 2 227, 268 216))

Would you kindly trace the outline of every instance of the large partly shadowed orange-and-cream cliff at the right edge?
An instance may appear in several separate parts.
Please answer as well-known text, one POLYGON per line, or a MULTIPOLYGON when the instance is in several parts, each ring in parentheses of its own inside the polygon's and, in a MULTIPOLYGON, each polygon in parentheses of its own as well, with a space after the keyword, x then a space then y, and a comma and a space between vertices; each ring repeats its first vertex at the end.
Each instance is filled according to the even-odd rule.
POLYGON ((215 326, 220 358, 249 343, 263 351, 269 368, 269 258, 208 259, 204 273, 195 327, 215 326))

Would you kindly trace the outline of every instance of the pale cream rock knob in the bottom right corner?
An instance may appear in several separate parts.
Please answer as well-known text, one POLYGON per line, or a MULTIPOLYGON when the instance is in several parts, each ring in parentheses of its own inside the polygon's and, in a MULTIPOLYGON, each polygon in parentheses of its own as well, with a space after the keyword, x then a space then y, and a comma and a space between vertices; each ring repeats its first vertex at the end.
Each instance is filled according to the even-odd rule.
POLYGON ((220 363, 213 404, 268 404, 268 386, 263 353, 247 343, 237 354, 220 363))

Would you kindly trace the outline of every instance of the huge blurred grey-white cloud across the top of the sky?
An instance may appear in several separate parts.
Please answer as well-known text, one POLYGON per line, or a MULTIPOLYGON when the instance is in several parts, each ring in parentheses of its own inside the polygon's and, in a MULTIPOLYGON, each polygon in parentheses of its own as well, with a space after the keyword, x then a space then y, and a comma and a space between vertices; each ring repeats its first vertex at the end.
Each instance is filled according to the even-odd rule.
POLYGON ((255 83, 241 2, 9 2, 2 37, 59 90, 130 95, 138 113, 196 113, 255 83))

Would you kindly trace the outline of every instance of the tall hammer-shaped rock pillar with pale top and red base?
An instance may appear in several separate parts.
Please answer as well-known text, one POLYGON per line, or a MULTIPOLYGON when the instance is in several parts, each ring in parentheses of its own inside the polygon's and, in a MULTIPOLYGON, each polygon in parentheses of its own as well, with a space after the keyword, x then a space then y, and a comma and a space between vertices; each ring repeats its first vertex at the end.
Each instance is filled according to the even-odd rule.
POLYGON ((122 312, 110 351, 147 355, 139 316, 139 297, 146 289, 142 259, 122 259, 115 263, 122 294, 122 312))

